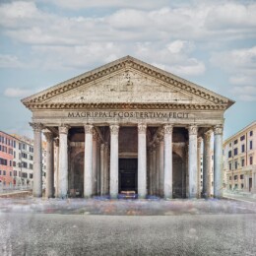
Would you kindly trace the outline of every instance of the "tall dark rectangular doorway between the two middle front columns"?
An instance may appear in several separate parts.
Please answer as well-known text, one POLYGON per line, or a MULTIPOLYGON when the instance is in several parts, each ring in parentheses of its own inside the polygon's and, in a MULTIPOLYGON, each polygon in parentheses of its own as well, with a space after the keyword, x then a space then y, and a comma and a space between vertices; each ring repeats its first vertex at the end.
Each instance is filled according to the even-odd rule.
POLYGON ((138 160, 119 159, 119 192, 138 190, 138 160))

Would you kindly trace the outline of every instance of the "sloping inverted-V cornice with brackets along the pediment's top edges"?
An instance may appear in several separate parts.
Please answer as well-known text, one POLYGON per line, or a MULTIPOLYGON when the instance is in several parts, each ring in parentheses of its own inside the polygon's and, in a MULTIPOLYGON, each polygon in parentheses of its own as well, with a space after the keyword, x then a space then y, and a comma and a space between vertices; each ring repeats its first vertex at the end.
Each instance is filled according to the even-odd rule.
POLYGON ((91 72, 82 74, 81 76, 78 76, 74 79, 63 82, 39 94, 24 98, 22 102, 27 107, 31 108, 34 103, 37 104, 37 103, 45 102, 45 100, 48 100, 54 96, 59 96, 63 93, 67 93, 71 90, 77 89, 83 85, 96 82, 98 79, 101 79, 112 73, 115 73, 121 70, 128 70, 129 68, 140 71, 146 75, 149 75, 159 81, 162 81, 171 86, 174 86, 177 89, 180 89, 189 94, 200 96, 208 100, 209 102, 212 102, 213 104, 225 104, 226 105, 225 108, 227 108, 233 103, 233 101, 230 100, 229 98, 217 95, 214 92, 211 92, 207 89, 204 89, 198 85, 195 85, 189 81, 181 79, 177 76, 174 76, 171 73, 160 70, 157 67, 144 63, 130 56, 121 58, 119 60, 106 64, 102 67, 99 67, 91 72))

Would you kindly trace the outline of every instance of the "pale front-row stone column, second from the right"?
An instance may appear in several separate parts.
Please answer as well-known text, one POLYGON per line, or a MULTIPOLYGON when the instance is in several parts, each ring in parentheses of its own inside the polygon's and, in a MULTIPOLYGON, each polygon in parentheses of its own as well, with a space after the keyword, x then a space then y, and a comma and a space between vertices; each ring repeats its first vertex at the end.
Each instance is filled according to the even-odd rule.
POLYGON ((197 192, 197 126, 190 125, 189 131, 189 149, 188 149, 188 197, 196 198, 197 192))

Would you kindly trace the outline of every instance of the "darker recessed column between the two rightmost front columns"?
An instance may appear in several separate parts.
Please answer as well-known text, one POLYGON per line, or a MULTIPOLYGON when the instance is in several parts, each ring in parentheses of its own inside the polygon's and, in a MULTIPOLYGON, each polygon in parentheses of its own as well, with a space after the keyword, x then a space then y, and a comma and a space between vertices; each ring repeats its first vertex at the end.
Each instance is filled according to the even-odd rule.
POLYGON ((211 132, 204 134, 203 152, 203 197, 211 196, 211 132))

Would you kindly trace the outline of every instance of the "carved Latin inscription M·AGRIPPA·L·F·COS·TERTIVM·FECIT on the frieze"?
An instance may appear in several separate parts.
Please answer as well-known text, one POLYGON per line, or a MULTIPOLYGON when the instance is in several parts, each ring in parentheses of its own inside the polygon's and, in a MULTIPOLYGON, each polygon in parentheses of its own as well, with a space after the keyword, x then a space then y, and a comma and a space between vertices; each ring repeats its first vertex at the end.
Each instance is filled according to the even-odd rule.
POLYGON ((188 119, 188 113, 185 112, 124 112, 124 111, 77 111, 69 112, 69 118, 139 118, 139 119, 188 119))

